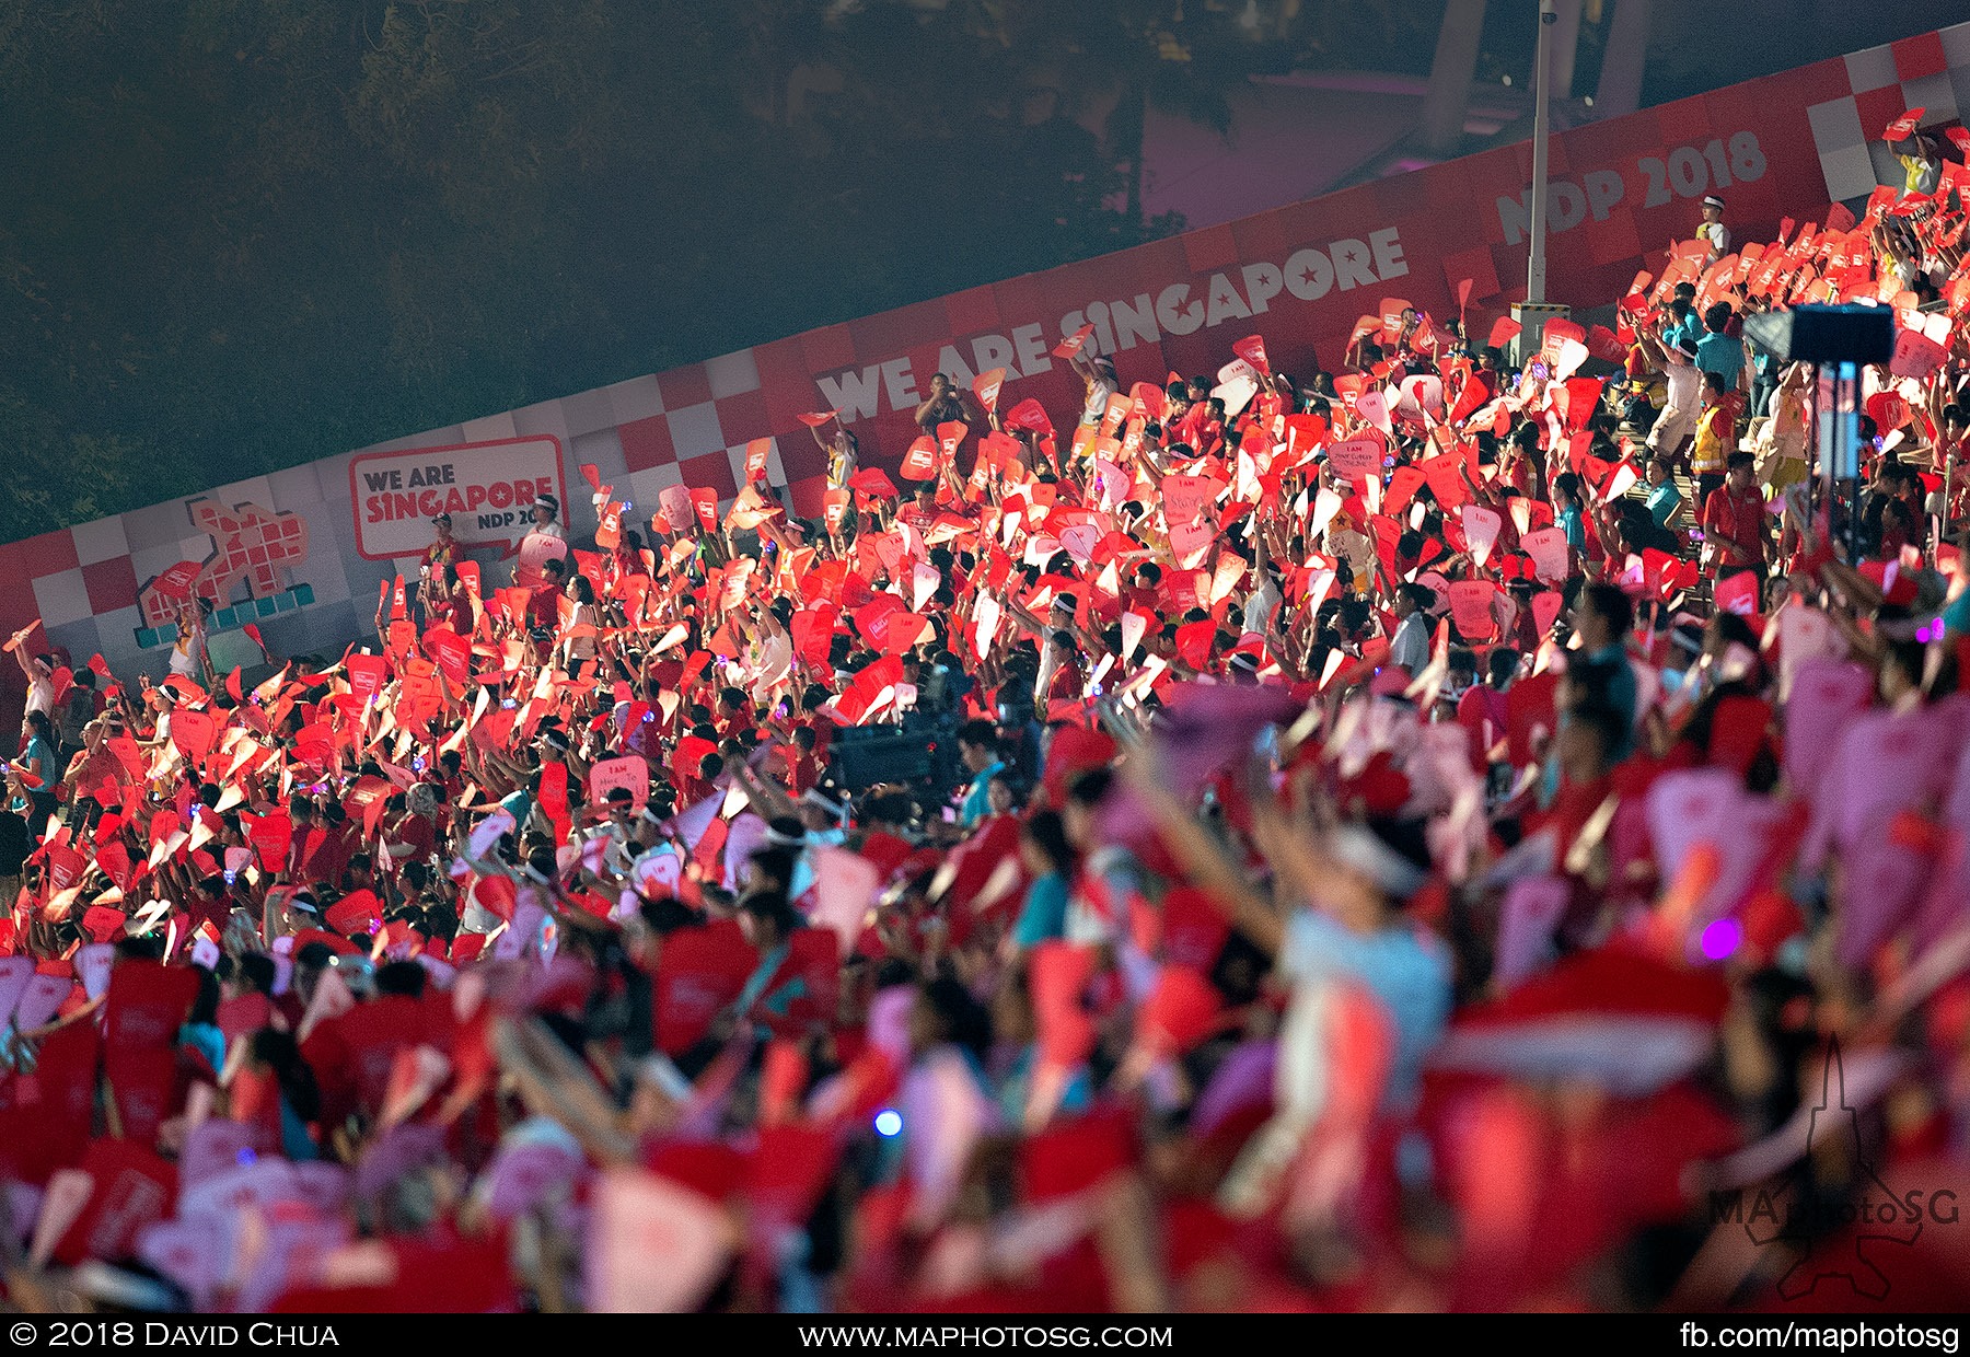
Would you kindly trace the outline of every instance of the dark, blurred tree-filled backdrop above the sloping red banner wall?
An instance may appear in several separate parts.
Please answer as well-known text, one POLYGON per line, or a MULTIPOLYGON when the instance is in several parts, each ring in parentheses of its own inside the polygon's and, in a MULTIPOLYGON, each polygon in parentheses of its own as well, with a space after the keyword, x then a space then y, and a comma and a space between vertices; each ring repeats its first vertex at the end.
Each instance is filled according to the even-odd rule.
MULTIPOLYGON (((1442 10, 0 0, 0 540, 1178 230, 1145 102, 1422 75, 1442 10)), ((1643 102, 1960 18, 1655 0, 1643 102)))

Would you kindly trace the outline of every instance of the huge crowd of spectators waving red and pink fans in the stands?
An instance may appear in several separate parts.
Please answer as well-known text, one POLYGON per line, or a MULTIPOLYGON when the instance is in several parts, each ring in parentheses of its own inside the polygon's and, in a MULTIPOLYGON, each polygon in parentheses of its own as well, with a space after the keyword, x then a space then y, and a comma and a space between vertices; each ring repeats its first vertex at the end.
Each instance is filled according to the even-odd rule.
POLYGON ((1966 179, 1905 150, 1539 343, 816 412, 818 520, 583 469, 250 681, 14 636, 10 1298, 1954 1304, 1966 179), (1858 502, 1743 339, 1808 301, 1899 313, 1858 502), (845 776, 883 727, 961 770, 845 776))

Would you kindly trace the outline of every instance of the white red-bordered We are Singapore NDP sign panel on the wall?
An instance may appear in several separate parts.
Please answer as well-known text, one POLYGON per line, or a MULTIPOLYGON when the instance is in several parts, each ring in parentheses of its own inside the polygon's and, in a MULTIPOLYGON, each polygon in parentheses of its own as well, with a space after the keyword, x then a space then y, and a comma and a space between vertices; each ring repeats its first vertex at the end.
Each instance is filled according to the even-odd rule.
POLYGON ((451 514, 451 536, 467 548, 520 549, 534 498, 561 492, 561 441, 532 437, 364 453, 349 461, 357 553, 366 561, 422 555, 431 520, 451 514))

